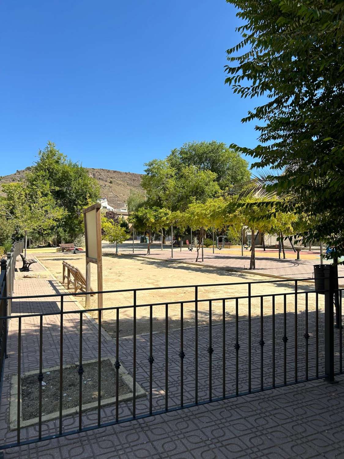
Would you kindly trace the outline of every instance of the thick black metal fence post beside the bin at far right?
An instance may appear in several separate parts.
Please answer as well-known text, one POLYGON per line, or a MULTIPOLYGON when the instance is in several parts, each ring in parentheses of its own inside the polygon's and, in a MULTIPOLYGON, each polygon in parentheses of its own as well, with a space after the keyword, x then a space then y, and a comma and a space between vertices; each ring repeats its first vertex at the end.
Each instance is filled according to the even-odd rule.
POLYGON ((333 294, 334 266, 324 266, 325 287, 325 374, 329 382, 334 382, 334 334, 333 334, 333 294))

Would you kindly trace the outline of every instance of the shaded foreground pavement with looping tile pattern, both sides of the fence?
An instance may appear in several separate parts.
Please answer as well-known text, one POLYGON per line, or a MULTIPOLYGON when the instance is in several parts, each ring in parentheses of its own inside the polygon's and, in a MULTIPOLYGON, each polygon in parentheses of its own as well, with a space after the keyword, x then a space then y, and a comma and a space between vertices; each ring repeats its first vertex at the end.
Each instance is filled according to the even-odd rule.
MULTIPOLYGON (((16 282, 15 294, 48 294, 61 290, 53 279, 25 279, 16 282)), ((72 297, 66 297, 65 311, 77 310, 72 297)), ((12 313, 42 313, 60 311, 58 302, 43 298, 13 302, 12 313)), ((64 363, 78 360, 78 314, 64 316, 64 363), (76 315, 76 317, 75 317, 76 315)), ((14 441, 16 431, 7 431, 8 398, 10 374, 17 371, 17 319, 11 320, 8 353, 6 359, 4 387, 0 413, 1 438, 14 441)), ((283 316, 276 315, 276 382, 283 381, 283 316)), ((323 315, 319 317, 319 373, 323 372, 323 315)), ((305 375, 305 314, 298 317, 298 372, 305 375)), ((248 342, 247 321, 239 323, 239 390, 247 389, 248 342)), ((22 371, 38 369, 39 319, 22 319, 22 371)), ((264 317, 264 369, 263 383, 271 385, 272 377, 272 320, 264 317)), ((59 316, 44 318, 44 367, 59 362, 59 316)), ((214 324, 212 330, 212 394, 222 393, 222 325, 214 324)), ((235 324, 225 327, 225 376, 226 393, 235 388, 235 324)), ((261 382, 260 321, 252 320, 252 387, 261 382)), ((315 374, 315 316, 309 314, 309 376, 315 374)), ((169 406, 180 403, 180 330, 169 333, 169 406)), ((287 380, 294 378, 294 315, 287 314, 286 353, 287 380)), ((194 329, 186 329, 184 336, 184 403, 194 399, 194 329)), ((209 381, 209 327, 199 329, 199 400, 208 396, 209 381)), ((336 333, 338 345, 338 331, 336 333)), ((83 358, 97 355, 97 324, 94 319, 83 320, 83 358)), ((115 342, 106 333, 102 335, 102 355, 115 355, 115 342)), ((153 410, 165 403, 165 336, 153 334, 153 410)), ((119 358, 129 373, 133 371, 132 338, 120 340, 119 358)), ((149 389, 149 336, 137 338, 137 380, 146 391, 149 389)), ((338 347, 336 349, 338 369, 338 347)), ((135 420, 126 424, 101 428, 68 437, 56 438, 40 444, 22 446, 5 451, 6 458, 344 458, 344 378, 338 376, 337 385, 329 385, 323 380, 300 383, 250 394, 226 401, 183 409, 181 411, 135 420)), ((132 402, 121 403, 120 419, 131 415, 132 402)), ((148 399, 137 400, 137 413, 147 412, 148 399)), ((113 419, 114 407, 101 409, 102 422, 113 419)), ((83 425, 96 422, 96 412, 83 414, 83 425)), ((64 430, 76 428, 77 419, 66 417, 64 430)), ((46 422, 43 435, 52 434, 58 428, 58 421, 46 422)), ((37 435, 37 427, 22 429, 22 438, 37 435)))

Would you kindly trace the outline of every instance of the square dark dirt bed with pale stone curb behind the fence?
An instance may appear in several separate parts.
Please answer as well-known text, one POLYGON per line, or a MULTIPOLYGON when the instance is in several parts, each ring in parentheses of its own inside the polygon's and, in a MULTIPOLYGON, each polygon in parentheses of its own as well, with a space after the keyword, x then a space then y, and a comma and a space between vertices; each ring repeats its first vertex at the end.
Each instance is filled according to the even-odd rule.
MULTIPOLYGON (((83 364, 83 404, 95 402, 98 399, 98 363, 83 364)), ((101 391, 100 398, 115 396, 116 370, 110 360, 101 362, 101 391), (109 383, 111 381, 111 384, 109 383)), ((42 386, 42 415, 55 413, 59 410, 60 400, 60 370, 44 371, 44 386, 42 386)), ((119 378, 119 395, 132 392, 127 384, 119 378)), ((23 420, 36 418, 39 415, 39 382, 38 373, 22 378, 22 416, 23 420)), ((78 365, 63 369, 62 409, 79 406, 79 374, 78 365)))

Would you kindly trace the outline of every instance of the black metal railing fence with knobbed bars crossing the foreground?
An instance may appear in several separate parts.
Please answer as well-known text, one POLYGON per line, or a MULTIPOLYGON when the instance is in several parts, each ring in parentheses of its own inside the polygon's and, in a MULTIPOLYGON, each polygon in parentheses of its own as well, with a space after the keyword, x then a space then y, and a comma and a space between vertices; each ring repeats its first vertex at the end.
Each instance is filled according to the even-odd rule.
MULTIPOLYGON (((132 292, 133 303, 103 309, 67 310, 70 294, 4 297, 16 306, 11 315, 1 320, 11 321, 9 343, 14 366, 9 377, 17 385, 11 395, 11 432, 4 432, 5 443, 0 449, 11 448, 51 438, 89 431, 146 418, 183 408, 210 403, 232 397, 289 386, 326 377, 333 381, 342 373, 342 323, 334 328, 333 296, 338 292, 339 318, 342 318, 342 289, 334 289, 333 279, 326 273, 324 289, 315 290, 313 284, 302 284, 309 279, 293 280, 293 290, 280 293, 252 295, 252 287, 266 284, 285 284, 286 280, 253 281, 148 289, 125 289, 94 292, 132 292), (204 287, 247 284, 247 295, 227 295, 201 298, 204 287), (300 290, 302 284, 303 290, 300 290), (189 288, 193 299, 172 302, 138 304, 140 291, 161 291, 189 288), (24 313, 23 305, 29 300, 33 308, 42 308, 39 300, 49 304, 51 312, 24 313), (35 299, 35 301, 31 301, 35 299), (53 303, 58 304, 58 311, 53 303), (170 308, 178 307, 180 327, 169 327, 170 308), (252 314, 252 308, 257 313, 252 314), (22 309, 21 309, 22 308, 22 309), (146 308, 149 330, 137 334, 138 311, 146 308), (165 312, 163 324, 155 320, 156 308, 165 312), (257 309, 258 308, 258 309, 257 309), (268 309, 268 313, 266 310, 268 309), (114 337, 104 335, 103 314, 113 312, 114 337), (130 311, 130 314, 129 314, 130 311), (243 313, 244 311, 244 313, 243 313), (192 326, 184 327, 185 314, 192 312, 192 326), (93 314, 95 317, 90 317, 93 314), (129 336, 121 336, 121 318, 131 317, 129 336), (216 319, 214 317, 216 316, 216 319), (202 320, 200 320, 202 318, 202 320), (23 327, 30 321, 29 333, 23 327), (202 322, 200 324, 200 321, 202 322), (207 323, 205 323, 205 321, 207 323), (159 324, 158 324, 159 322, 159 324), (158 326, 159 325, 159 326, 158 326), (157 333, 155 332, 157 331, 157 333), (46 338, 45 336, 48 336, 46 338), (34 338, 33 338, 34 336, 34 338), (27 343, 32 347, 30 358, 27 343), (92 406, 83 405, 85 390, 84 367, 89 358, 97 364, 97 395, 92 406), (103 358, 113 358, 115 378, 105 384, 113 387, 113 399, 103 403, 101 364, 103 358), (64 409, 64 368, 66 363, 77 362, 78 384, 72 389, 78 394, 73 412, 64 409), (58 369, 58 412, 47 416, 42 412, 44 377, 47 368, 58 369), (130 397, 119 393, 120 376, 131 378, 130 397), (21 391, 22 377, 27 369, 36 370, 39 388, 38 415, 28 422, 23 419, 21 391), (14 378, 14 380, 13 380, 14 378), (35 425, 34 429, 30 425, 35 425), (13 437, 15 431, 15 437, 13 437)), ((281 287, 283 288, 283 287, 281 287)), ((84 295, 83 293, 77 294, 84 295)), ((107 320, 107 319, 106 319, 107 320)), ((190 325, 190 321, 188 322, 190 325)), ((123 333, 122 333, 123 335, 123 333)), ((94 375, 89 375, 94 376, 94 375)), ((2 397, 5 397, 4 391, 2 397)))

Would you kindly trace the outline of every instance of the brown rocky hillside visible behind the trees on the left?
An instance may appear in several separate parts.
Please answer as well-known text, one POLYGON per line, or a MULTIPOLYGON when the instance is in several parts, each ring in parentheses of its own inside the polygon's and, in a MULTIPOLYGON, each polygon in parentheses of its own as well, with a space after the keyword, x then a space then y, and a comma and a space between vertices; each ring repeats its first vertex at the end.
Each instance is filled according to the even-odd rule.
MULTIPOLYGON (((14 174, 0 177, 0 185, 3 183, 17 182, 22 180, 31 167, 17 170, 14 174)), ((106 197, 112 207, 123 204, 129 196, 130 190, 141 188, 142 174, 133 172, 112 171, 110 169, 87 168, 89 176, 96 179, 100 186, 101 197, 106 197)))

